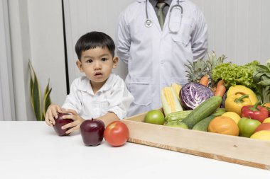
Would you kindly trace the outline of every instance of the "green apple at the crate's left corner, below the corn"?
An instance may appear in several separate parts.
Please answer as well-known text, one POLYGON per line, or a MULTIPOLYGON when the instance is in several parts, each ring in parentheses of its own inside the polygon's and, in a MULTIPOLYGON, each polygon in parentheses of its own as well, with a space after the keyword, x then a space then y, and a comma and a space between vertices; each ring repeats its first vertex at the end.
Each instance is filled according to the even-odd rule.
POLYGON ((149 110, 144 117, 144 122, 156 125, 163 125, 164 115, 160 110, 149 110))

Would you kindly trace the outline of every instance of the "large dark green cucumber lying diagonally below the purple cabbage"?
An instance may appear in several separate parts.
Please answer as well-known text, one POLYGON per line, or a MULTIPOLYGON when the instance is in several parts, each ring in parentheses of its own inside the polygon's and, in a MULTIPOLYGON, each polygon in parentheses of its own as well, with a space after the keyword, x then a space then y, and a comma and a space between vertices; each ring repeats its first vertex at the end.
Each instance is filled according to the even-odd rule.
POLYGON ((212 96, 211 98, 208 98, 190 112, 182 122, 188 125, 188 129, 192 129, 196 123, 200 122, 205 117, 210 116, 212 112, 215 112, 215 110, 220 107, 221 101, 222 98, 220 96, 212 96))

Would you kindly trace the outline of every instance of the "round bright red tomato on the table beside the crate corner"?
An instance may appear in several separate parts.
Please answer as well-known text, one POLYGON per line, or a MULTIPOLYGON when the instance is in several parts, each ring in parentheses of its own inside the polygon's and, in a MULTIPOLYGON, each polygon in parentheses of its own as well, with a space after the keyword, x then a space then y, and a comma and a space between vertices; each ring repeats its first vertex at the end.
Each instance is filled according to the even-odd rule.
POLYGON ((129 129, 119 120, 107 125, 104 131, 104 139, 112 146, 122 146, 128 138, 129 129))

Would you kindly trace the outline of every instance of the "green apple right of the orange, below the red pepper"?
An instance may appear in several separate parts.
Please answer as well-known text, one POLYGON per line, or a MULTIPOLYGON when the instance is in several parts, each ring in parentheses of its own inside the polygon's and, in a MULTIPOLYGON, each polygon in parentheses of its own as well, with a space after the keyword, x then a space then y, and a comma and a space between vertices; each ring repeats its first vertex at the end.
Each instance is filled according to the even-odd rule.
POLYGON ((255 129, 261 125, 259 120, 252 120, 247 117, 242 117, 238 122, 239 136, 241 137, 251 137, 255 129))

